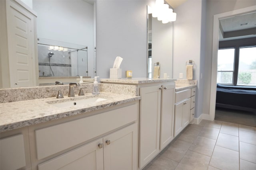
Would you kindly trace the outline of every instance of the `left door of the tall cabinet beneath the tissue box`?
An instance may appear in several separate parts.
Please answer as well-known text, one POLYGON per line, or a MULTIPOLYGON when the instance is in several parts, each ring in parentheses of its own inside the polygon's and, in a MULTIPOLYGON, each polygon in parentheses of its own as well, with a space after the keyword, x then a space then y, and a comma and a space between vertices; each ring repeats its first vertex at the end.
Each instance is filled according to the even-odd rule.
POLYGON ((140 168, 159 152, 161 86, 140 88, 140 168))

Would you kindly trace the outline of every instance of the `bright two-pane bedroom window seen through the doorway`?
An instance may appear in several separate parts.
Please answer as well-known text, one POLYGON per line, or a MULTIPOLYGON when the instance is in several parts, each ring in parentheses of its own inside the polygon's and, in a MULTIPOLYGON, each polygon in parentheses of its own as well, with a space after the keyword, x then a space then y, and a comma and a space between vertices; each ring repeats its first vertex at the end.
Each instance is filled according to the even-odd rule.
POLYGON ((219 49, 217 83, 256 86, 256 46, 219 49))

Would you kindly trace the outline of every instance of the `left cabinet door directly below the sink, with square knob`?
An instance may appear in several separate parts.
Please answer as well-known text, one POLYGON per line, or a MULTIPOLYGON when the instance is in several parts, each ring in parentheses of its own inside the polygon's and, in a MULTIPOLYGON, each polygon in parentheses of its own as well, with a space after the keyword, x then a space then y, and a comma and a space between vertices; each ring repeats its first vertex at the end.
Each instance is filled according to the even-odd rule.
POLYGON ((38 170, 103 170, 102 138, 38 165, 38 170))

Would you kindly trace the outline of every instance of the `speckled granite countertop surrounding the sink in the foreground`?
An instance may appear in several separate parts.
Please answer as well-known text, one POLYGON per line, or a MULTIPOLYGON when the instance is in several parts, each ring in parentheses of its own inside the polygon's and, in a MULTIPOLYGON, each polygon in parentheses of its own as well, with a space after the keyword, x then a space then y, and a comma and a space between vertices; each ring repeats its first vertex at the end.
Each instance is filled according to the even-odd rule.
POLYGON ((85 94, 85 96, 75 96, 72 98, 64 96, 62 99, 54 97, 2 103, 0 104, 0 132, 86 113, 110 106, 116 106, 140 99, 140 96, 101 92, 99 95, 92 95, 90 93, 85 94), (68 108, 59 108, 52 104, 48 104, 56 102, 59 103, 60 101, 67 102, 70 100, 82 100, 93 97, 104 98, 106 100, 96 103, 81 104, 79 106, 71 106, 68 108))

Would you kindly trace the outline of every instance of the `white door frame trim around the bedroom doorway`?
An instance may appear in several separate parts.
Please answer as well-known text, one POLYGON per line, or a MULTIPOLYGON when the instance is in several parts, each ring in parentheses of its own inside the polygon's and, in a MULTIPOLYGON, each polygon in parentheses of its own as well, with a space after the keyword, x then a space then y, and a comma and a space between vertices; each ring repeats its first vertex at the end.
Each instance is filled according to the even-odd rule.
POLYGON ((204 90, 203 90, 203 113, 209 114, 210 109, 210 88, 212 74, 212 34, 213 34, 213 16, 224 12, 246 8, 256 5, 255 0, 207 0, 206 3, 206 39, 205 39, 205 57, 204 57, 204 90))

